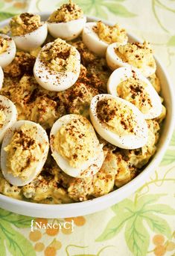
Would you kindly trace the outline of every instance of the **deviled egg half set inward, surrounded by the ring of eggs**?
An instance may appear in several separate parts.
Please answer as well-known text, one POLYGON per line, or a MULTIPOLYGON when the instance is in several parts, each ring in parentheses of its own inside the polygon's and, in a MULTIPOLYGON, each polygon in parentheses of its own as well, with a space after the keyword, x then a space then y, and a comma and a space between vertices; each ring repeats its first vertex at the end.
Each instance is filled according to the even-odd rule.
MULTIPOLYGON (((39 85, 41 85, 43 88, 49 91, 66 90, 67 88, 71 87, 71 85, 74 85, 74 83, 78 79, 78 76, 80 75, 80 53, 77 51, 77 49, 74 46, 71 46, 65 41, 60 39, 60 46, 62 43, 64 43, 74 53, 72 58, 70 56, 71 60, 69 60, 69 57, 67 58, 67 61, 69 61, 69 64, 72 65, 71 70, 66 70, 66 68, 63 67, 61 63, 60 63, 60 71, 51 70, 51 68, 49 68, 44 61, 42 61, 42 58, 41 58, 42 52, 48 51, 48 54, 49 54, 51 46, 53 46, 54 42, 47 43, 45 46, 42 47, 34 64, 34 77, 36 81, 39 83, 39 85)), ((61 55, 64 56, 64 53, 61 55)), ((64 61, 63 56, 60 58, 58 57, 60 61, 62 60, 64 61)))

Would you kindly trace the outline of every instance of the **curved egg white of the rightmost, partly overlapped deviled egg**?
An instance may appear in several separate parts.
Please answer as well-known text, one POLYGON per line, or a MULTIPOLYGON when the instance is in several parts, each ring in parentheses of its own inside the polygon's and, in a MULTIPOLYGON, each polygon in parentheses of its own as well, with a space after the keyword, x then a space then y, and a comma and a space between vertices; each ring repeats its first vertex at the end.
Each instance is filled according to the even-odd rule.
POLYGON ((161 115, 162 113, 162 103, 159 94, 157 94, 156 90, 153 88, 153 85, 151 85, 150 81, 133 67, 119 67, 117 70, 114 70, 112 72, 107 82, 108 93, 114 96, 118 96, 118 85, 121 82, 124 82, 125 80, 132 78, 133 76, 147 84, 147 87, 144 90, 147 94, 149 94, 152 107, 148 110, 146 114, 143 113, 144 118, 153 119, 159 117, 159 115, 161 115))

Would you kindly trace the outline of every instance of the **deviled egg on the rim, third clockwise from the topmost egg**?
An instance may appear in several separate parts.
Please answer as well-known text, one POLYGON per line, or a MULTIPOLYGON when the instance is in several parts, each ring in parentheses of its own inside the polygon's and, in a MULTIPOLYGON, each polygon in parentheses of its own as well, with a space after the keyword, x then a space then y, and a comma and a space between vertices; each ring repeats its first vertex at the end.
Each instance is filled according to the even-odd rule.
POLYGON ((111 70, 130 65, 139 69, 146 77, 156 72, 156 61, 150 43, 126 43, 121 46, 112 43, 106 50, 106 62, 111 70))

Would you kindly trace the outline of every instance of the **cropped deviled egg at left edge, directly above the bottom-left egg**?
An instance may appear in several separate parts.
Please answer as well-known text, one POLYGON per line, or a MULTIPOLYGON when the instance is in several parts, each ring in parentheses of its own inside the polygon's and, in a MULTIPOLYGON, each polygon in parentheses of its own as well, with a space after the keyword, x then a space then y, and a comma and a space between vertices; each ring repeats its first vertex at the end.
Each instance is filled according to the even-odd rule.
POLYGON ((13 102, 0 95, 0 142, 6 130, 16 122, 17 110, 13 102))

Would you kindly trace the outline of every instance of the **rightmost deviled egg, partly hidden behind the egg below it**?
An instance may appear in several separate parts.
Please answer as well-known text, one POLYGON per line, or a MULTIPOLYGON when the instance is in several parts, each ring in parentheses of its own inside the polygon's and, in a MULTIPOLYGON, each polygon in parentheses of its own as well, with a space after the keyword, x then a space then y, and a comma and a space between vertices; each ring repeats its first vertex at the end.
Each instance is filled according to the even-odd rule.
POLYGON ((114 70, 109 76, 107 91, 133 103, 145 119, 157 118, 162 113, 159 94, 150 81, 132 67, 119 67, 114 70))

